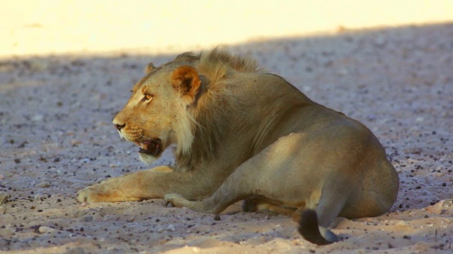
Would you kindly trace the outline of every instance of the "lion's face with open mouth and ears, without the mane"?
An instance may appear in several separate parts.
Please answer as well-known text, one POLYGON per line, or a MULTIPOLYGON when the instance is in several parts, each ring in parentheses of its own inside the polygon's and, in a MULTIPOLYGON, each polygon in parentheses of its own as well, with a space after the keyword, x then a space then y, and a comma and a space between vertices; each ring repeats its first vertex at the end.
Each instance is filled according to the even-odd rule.
POLYGON ((188 150, 193 141, 193 119, 187 114, 200 88, 200 77, 190 61, 147 66, 147 74, 132 88, 132 96, 113 124, 123 140, 136 143, 145 163, 154 162, 171 143, 188 150), (178 136, 179 135, 179 136, 178 136))

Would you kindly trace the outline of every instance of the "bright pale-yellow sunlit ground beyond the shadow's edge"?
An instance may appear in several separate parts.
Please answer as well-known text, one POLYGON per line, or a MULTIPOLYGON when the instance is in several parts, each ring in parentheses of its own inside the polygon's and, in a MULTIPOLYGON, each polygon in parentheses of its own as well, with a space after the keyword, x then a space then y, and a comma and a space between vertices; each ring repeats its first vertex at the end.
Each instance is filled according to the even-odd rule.
POLYGON ((452 0, 2 0, 0 57, 148 54, 359 28, 447 23, 452 0))

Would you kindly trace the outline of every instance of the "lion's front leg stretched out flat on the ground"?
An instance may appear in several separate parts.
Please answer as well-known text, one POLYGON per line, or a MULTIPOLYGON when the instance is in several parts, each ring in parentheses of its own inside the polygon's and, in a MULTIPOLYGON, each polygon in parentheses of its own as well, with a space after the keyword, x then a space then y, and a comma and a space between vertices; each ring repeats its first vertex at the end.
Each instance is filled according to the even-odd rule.
MULTIPOLYGON (((173 172, 170 167, 156 167, 129 173, 84 188, 77 193, 77 200, 93 203, 164 198, 166 193, 173 192, 169 188, 169 186, 172 186, 173 179, 186 179, 181 174, 183 173, 173 172)), ((181 181, 177 181, 174 185, 178 187, 181 184, 185 185, 181 181)))

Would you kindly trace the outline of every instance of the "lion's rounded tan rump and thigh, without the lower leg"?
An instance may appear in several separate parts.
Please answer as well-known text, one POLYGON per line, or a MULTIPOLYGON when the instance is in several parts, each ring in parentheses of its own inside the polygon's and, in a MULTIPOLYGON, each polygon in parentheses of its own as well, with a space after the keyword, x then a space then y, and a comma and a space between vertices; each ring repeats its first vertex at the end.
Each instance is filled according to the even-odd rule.
POLYGON ((258 184, 273 190, 265 198, 289 207, 318 208, 321 221, 324 212, 334 209, 336 215, 348 218, 389 210, 396 199, 398 176, 382 145, 352 119, 321 113, 318 120, 326 119, 323 128, 286 135, 256 158, 258 162, 259 157, 272 157, 265 159, 267 170, 261 172, 258 184))

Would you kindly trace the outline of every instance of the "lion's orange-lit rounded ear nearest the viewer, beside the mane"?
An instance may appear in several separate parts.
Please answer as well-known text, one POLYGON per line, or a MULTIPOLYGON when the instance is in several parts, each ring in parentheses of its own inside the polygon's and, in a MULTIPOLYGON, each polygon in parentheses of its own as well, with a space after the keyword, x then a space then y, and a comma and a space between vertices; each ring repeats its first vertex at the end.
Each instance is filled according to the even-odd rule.
POLYGON ((171 80, 173 87, 180 93, 180 96, 188 104, 191 104, 195 100, 201 83, 197 70, 192 66, 181 66, 173 71, 171 80))

